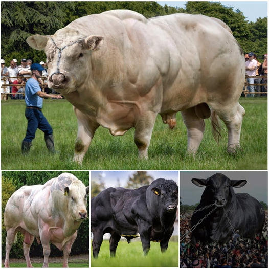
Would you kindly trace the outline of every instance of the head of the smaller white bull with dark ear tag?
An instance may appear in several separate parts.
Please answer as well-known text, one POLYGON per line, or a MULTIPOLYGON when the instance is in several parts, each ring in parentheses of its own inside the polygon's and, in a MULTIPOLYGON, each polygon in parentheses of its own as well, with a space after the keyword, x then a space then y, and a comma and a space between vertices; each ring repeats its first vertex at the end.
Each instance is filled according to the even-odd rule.
POLYGON ((68 187, 64 188, 64 195, 68 198, 69 214, 76 221, 87 218, 87 195, 89 187, 80 180, 73 181, 68 187))

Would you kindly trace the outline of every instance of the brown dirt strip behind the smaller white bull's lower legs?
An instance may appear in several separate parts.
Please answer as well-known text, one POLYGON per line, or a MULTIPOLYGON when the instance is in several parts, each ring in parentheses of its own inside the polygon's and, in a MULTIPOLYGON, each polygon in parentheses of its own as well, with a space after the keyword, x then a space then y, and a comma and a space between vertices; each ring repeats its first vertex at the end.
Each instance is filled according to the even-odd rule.
MULTIPOLYGON (((32 257, 30 258, 32 263, 42 263, 44 258, 43 257, 32 257)), ((63 257, 49 257, 50 263, 61 263, 63 261, 63 257)), ((69 262, 77 262, 77 263, 85 263, 89 262, 89 255, 88 254, 81 254, 81 255, 73 255, 69 256, 69 262)), ((10 263, 18 263, 18 262, 25 262, 24 258, 21 259, 9 259, 10 263)))

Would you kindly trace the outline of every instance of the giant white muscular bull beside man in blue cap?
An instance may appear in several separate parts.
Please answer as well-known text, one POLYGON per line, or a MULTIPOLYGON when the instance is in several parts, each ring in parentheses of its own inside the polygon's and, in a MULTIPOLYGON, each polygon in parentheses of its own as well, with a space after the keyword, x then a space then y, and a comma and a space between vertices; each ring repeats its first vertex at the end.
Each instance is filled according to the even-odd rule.
POLYGON ((27 42, 46 52, 48 87, 74 106, 74 161, 82 162, 100 125, 114 136, 135 127, 139 156, 147 158, 156 115, 173 128, 177 111, 187 127, 188 152, 197 151, 204 118, 211 114, 213 127, 218 115, 228 128, 228 152, 240 146, 245 63, 230 28, 219 19, 189 14, 146 19, 112 10, 27 42))

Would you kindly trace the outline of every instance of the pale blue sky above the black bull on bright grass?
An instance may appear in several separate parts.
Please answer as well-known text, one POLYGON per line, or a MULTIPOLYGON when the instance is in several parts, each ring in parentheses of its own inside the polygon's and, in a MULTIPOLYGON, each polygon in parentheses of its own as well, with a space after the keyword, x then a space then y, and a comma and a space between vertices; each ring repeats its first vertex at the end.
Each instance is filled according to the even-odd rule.
MULTIPOLYGON (((136 171, 92 171, 91 180, 98 180, 102 177, 105 187, 118 187, 118 179, 120 181, 120 187, 125 187, 129 176, 132 176, 136 171)), ((149 170, 148 174, 151 175, 154 180, 157 178, 165 178, 166 180, 173 180, 178 185, 178 171, 154 171, 149 170)))

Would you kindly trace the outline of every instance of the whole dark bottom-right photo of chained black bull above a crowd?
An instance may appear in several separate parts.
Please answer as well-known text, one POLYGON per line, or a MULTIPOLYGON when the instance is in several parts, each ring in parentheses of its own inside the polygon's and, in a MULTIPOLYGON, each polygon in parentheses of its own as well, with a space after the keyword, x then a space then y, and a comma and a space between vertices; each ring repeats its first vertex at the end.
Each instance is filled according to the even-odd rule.
POLYGON ((180 267, 267 268, 267 171, 180 172, 180 267))

